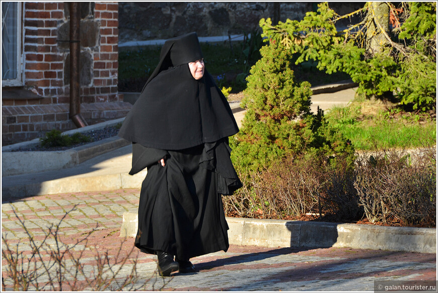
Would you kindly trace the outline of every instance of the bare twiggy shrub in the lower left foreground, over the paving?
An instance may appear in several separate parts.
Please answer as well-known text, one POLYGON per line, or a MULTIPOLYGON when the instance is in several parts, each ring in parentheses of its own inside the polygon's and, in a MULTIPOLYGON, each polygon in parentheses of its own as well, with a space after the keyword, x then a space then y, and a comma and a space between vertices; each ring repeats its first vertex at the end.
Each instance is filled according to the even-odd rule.
MULTIPOLYGON (((72 245, 65 244, 59 228, 66 215, 74 209, 68 211, 57 225, 44 231, 44 236, 38 240, 14 210, 27 235, 27 239, 20 242, 30 246, 30 253, 21 251, 20 243, 11 244, 7 235, 2 235, 3 290, 138 290, 144 289, 147 284, 155 288, 156 273, 155 280, 154 275, 144 279, 137 273, 137 257, 131 257, 133 246, 128 252, 120 247, 116 255, 100 252, 93 246, 87 248, 88 239, 95 230, 72 245)), ((165 285, 163 280, 158 289, 165 285)))

